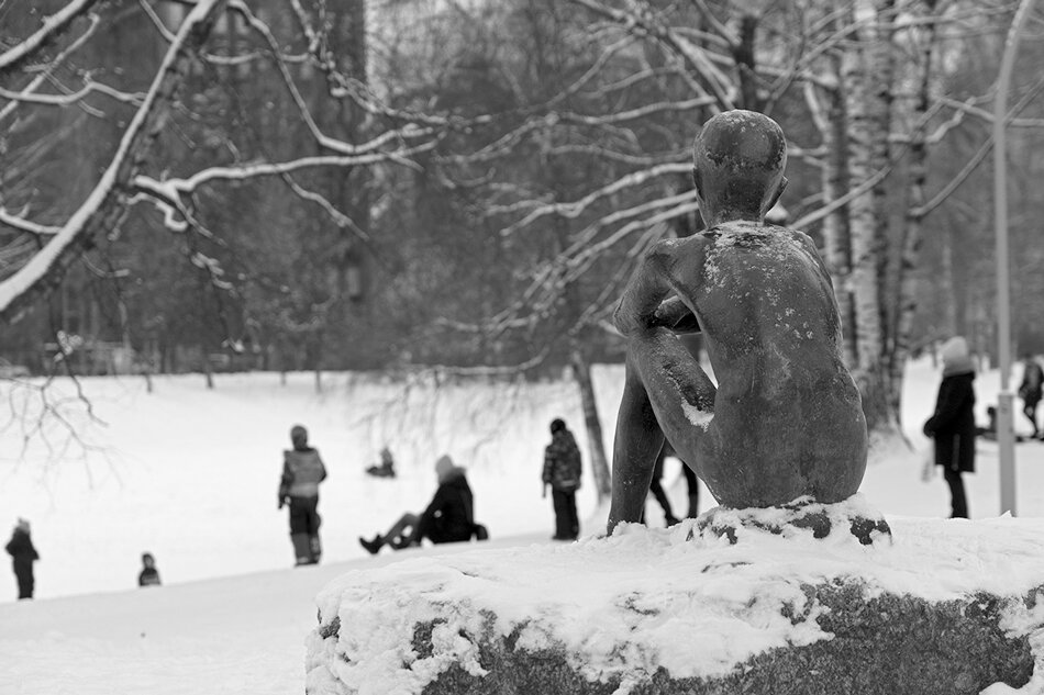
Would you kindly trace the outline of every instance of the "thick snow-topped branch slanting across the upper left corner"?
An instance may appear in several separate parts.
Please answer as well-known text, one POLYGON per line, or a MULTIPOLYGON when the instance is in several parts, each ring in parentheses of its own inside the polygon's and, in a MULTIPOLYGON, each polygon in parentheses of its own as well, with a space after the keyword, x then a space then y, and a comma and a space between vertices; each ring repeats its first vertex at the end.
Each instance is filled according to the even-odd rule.
MULTIPOLYGON (((89 2, 70 3, 89 5, 89 2)), ((180 87, 186 66, 210 32, 222 0, 199 0, 178 30, 163 58, 142 105, 123 133, 120 145, 93 190, 25 266, 0 282, 0 318, 13 320, 37 295, 56 287, 81 248, 93 244, 101 231, 119 226, 125 214, 125 187, 137 172, 151 142, 164 127, 170 102, 180 87)))

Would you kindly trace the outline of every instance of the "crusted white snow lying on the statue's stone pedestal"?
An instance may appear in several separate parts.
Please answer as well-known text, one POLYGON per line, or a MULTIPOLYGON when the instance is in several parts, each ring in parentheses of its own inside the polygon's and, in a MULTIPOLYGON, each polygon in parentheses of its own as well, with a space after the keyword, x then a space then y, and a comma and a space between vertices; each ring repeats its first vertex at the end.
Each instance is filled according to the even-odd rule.
MULTIPOLYGON (((856 495, 849 514, 865 514, 856 495)), ((842 505, 831 505, 838 507, 842 505)), ((777 523, 778 509, 759 520, 777 523)), ((862 546, 842 527, 825 539, 740 527, 737 542, 692 536, 689 519, 669 529, 621 527, 612 537, 569 546, 474 550, 351 572, 318 596, 322 621, 338 638, 309 641, 309 692, 417 694, 462 661, 482 673, 477 647, 520 630, 518 647, 562 649, 592 681, 667 669, 674 677, 721 675, 766 650, 831 639, 807 606, 802 585, 833 579, 865 583, 868 597, 890 592, 930 601, 977 591, 1017 596, 1044 584, 1044 520, 977 523, 890 519, 895 542, 862 546), (808 618, 792 624, 784 616, 808 618), (417 620, 441 620, 434 650, 411 648, 417 620), (332 677, 335 675, 336 677, 332 677)), ((1010 616, 1013 635, 1044 630, 1044 601, 1010 616)))

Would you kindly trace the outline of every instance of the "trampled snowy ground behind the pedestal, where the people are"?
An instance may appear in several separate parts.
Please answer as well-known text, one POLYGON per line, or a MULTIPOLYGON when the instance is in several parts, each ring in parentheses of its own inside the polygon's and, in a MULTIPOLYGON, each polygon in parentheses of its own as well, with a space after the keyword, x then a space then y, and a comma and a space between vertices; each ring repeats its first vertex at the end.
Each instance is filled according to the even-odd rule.
MULTIPOLYGON (((863 493, 886 515, 943 517, 945 484, 939 477, 923 482, 920 467, 928 447, 920 425, 939 373, 919 362, 907 383, 904 427, 915 450, 878 452, 863 493)), ((477 517, 493 536, 484 547, 546 542, 553 519, 538 477, 547 423, 563 416, 579 430, 581 422, 575 389, 559 383, 443 384, 436 392, 430 383, 404 389, 330 374, 318 395, 310 374, 291 374, 286 385, 277 374, 254 374, 219 377, 213 391, 199 375, 157 379, 153 393, 127 379, 88 379, 84 389, 104 423, 87 429, 86 450, 57 448, 64 439, 51 431, 51 450, 33 444, 22 452, 20 422, 0 431, 0 524, 31 519, 42 556, 35 602, 13 603, 13 576, 0 572, 4 695, 300 692, 314 596, 351 569, 392 559, 370 559, 355 538, 420 508, 440 453, 468 469, 477 517), (298 422, 310 428, 331 478, 321 502, 324 564, 292 570, 275 491, 280 450, 298 422), (385 444, 400 478, 368 479, 363 469, 385 444), (145 550, 157 558, 160 588, 134 588, 145 550)), ((596 389, 608 447, 619 369, 597 370, 596 389)), ((980 378, 977 391, 985 421, 996 374, 980 378)), ((15 411, 40 402, 26 389, 0 395, 15 411)), ((84 417, 76 401, 59 408, 74 422, 84 417)), ((1019 514, 1044 517, 1044 444, 1019 445, 1017 456, 1019 514)), ((971 514, 997 516, 993 445, 979 444, 978 469, 967 477, 971 514)), ((579 503, 584 531, 592 533, 604 519, 587 475, 579 503)), ((676 513, 684 512, 677 463, 668 461, 665 483, 676 513)), ((701 508, 712 505, 703 491, 701 508)), ((648 508, 656 525, 662 514, 655 503, 648 508)))

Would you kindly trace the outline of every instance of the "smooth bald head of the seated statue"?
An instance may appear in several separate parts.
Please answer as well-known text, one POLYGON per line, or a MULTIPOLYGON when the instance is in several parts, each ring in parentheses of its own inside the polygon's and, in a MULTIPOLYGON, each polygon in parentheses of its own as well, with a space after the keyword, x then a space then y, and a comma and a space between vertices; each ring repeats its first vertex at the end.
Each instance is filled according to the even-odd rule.
POLYGON ((692 159, 692 180, 708 225, 760 221, 787 186, 787 141, 779 124, 763 113, 719 113, 703 124, 692 159))

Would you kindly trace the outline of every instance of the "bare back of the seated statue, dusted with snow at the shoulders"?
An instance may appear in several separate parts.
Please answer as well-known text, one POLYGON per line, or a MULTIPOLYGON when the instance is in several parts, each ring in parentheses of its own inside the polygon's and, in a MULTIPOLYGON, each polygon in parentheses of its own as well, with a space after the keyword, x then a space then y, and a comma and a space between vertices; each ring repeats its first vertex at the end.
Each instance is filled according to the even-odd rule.
POLYGON ((675 450, 726 506, 855 494, 866 423, 812 240, 730 222, 666 246, 680 259, 668 282, 699 321, 718 379, 712 416, 682 406, 682 430, 665 431, 675 450))

